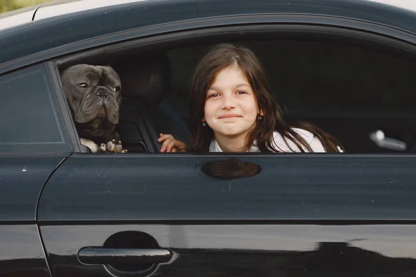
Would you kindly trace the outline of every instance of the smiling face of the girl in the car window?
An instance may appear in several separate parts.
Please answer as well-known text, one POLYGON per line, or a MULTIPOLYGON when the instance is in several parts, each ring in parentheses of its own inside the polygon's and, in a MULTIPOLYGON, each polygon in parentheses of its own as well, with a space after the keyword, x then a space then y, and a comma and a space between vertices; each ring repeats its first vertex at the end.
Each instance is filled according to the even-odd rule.
POLYGON ((254 128, 259 115, 257 100, 238 66, 217 73, 207 91, 204 111, 202 122, 207 122, 216 138, 245 136, 254 128))

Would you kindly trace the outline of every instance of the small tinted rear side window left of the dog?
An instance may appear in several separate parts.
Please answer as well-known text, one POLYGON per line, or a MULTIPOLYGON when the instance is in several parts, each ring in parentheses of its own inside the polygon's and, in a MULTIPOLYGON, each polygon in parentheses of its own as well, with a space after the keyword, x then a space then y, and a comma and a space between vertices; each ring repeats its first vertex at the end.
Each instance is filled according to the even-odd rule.
POLYGON ((43 64, 0 76, 0 154, 70 152, 43 64))

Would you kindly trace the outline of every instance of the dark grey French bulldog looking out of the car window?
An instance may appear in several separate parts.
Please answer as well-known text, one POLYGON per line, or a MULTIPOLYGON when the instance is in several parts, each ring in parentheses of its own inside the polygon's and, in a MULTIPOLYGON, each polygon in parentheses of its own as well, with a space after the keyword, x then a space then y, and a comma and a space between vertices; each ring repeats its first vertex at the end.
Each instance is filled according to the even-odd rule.
POLYGON ((81 144, 92 152, 125 152, 116 131, 121 105, 116 71, 77 64, 62 71, 61 82, 81 144))

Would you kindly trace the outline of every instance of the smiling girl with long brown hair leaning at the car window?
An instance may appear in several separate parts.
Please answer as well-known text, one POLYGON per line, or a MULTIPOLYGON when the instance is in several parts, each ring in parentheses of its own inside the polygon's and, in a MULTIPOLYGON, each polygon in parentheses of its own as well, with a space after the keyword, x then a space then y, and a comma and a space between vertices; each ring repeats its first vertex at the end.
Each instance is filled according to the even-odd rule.
POLYGON ((343 152, 309 123, 288 126, 248 48, 220 44, 200 60, 191 88, 191 143, 160 134, 161 152, 343 152))

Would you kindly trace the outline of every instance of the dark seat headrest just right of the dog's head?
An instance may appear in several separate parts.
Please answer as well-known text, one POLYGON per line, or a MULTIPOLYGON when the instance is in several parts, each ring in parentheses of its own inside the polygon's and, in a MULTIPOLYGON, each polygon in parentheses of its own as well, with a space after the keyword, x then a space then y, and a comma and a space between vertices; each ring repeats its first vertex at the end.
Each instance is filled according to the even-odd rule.
POLYGON ((170 82, 168 57, 165 53, 116 60, 113 69, 121 79, 121 96, 139 98, 145 105, 158 105, 170 82))

